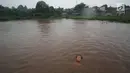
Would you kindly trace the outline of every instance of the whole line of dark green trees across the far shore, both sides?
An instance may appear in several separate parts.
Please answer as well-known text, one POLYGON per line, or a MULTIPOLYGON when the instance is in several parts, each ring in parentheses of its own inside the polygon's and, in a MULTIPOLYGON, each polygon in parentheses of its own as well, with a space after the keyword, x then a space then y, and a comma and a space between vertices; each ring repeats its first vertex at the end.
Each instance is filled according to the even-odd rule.
MULTIPOLYGON (((115 7, 108 7, 107 4, 103 5, 106 8, 106 12, 116 12, 115 7)), ((130 8, 130 6, 126 6, 130 8)), ((27 6, 19 5, 17 8, 4 7, 0 5, 0 20, 9 19, 31 19, 31 18, 56 18, 61 17, 63 13, 66 15, 81 15, 84 8, 89 8, 88 5, 84 3, 77 4, 73 8, 54 8, 49 6, 44 1, 38 1, 35 8, 27 8, 27 6)), ((98 6, 92 8, 96 9, 97 13, 100 13, 98 6)))

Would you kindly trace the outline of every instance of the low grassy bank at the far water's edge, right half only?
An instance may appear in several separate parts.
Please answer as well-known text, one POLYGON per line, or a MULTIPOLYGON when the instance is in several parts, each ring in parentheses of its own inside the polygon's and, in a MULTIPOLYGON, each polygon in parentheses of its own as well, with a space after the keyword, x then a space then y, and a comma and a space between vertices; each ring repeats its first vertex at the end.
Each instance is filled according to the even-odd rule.
POLYGON ((116 21, 130 23, 130 17, 128 16, 97 16, 97 17, 83 17, 83 16, 70 16, 71 19, 86 19, 86 20, 106 20, 106 21, 116 21))

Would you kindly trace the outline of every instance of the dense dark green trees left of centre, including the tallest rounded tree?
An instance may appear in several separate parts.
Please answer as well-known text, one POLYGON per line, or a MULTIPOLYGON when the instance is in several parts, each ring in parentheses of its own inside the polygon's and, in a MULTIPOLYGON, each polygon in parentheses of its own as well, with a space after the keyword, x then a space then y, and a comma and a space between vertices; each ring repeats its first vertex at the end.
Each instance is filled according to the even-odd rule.
POLYGON ((26 18, 49 18, 61 16, 63 8, 54 8, 44 1, 38 1, 35 8, 19 5, 17 8, 0 5, 1 19, 26 19, 26 18))

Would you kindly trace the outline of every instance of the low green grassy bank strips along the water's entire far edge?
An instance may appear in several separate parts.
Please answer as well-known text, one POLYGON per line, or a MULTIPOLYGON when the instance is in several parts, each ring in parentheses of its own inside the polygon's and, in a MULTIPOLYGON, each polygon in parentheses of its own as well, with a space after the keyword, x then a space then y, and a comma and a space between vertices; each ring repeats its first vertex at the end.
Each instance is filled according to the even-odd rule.
MULTIPOLYGON (((10 17, 0 17, 0 21, 10 21, 10 20, 27 20, 27 19, 61 19, 60 16, 51 16, 51 17, 43 17, 43 16, 28 16, 28 17, 18 17, 18 16, 10 16, 10 17)), ((96 17, 84 17, 84 16, 68 16, 70 19, 84 19, 84 20, 105 20, 105 21, 114 21, 114 22, 123 22, 130 23, 129 16, 96 16, 96 17)))

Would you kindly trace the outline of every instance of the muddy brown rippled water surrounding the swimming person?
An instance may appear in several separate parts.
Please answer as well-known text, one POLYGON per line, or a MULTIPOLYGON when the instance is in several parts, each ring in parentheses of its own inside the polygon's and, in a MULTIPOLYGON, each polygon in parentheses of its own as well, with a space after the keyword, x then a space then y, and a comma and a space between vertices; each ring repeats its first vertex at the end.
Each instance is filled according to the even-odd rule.
POLYGON ((130 25, 92 20, 0 22, 0 73, 130 73, 130 25), (75 64, 81 54, 81 65, 75 64))

